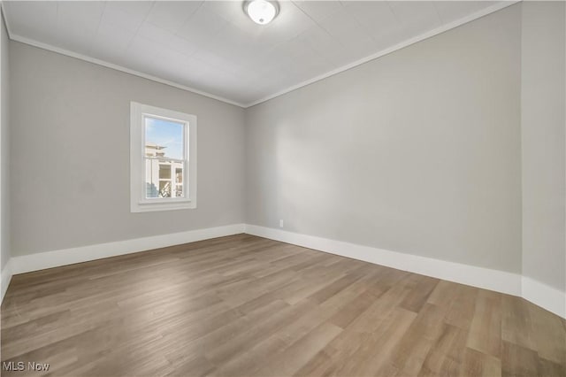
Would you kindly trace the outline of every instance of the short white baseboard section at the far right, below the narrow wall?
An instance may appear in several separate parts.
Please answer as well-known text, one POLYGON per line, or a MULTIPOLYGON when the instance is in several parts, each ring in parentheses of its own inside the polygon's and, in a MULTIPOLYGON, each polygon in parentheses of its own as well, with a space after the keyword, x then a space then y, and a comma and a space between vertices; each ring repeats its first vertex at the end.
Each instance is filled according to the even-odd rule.
POLYGON ((548 312, 553 312, 566 319, 566 292, 523 276, 522 296, 532 304, 539 305, 548 312))

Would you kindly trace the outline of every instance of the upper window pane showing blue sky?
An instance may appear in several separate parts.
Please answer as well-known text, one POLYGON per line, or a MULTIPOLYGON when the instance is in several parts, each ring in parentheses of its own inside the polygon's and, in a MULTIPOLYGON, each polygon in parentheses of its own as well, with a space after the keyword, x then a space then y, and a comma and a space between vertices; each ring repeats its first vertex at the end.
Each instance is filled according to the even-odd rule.
POLYGON ((147 157, 183 159, 183 123, 145 117, 145 154, 147 157))

